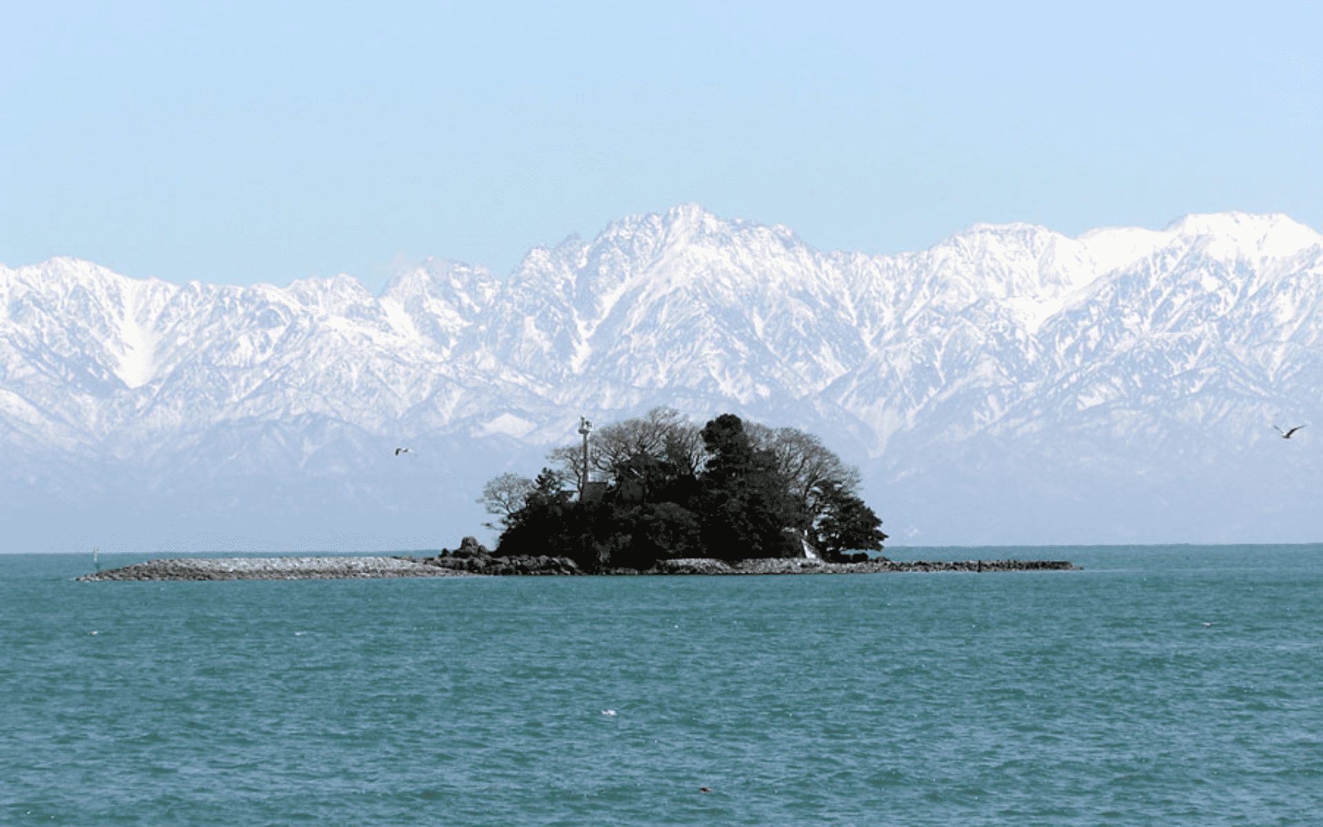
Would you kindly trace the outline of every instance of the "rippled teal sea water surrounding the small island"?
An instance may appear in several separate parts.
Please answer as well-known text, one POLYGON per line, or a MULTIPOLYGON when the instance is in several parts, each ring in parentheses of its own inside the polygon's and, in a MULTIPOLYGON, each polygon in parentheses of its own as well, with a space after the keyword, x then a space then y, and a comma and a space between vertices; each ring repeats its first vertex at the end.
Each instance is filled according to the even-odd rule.
POLYGON ((86 556, 0 556, 0 823, 1320 823, 1323 546, 889 554, 1086 569, 79 584, 86 556))

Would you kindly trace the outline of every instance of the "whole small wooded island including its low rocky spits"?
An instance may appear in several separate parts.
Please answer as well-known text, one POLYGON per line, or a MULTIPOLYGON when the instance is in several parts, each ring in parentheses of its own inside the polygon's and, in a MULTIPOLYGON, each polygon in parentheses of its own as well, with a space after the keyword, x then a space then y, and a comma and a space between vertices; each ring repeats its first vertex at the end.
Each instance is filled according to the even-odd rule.
POLYGON ((1064 560, 882 557, 881 520, 857 468, 812 434, 721 414, 701 429, 668 408, 556 449, 536 479, 501 474, 479 503, 496 549, 464 537, 413 557, 184 557, 83 581, 341 580, 500 576, 873 574, 1069 570, 1064 560), (594 479, 595 478, 595 479, 594 479), (574 490, 566 483, 577 480, 574 490))

